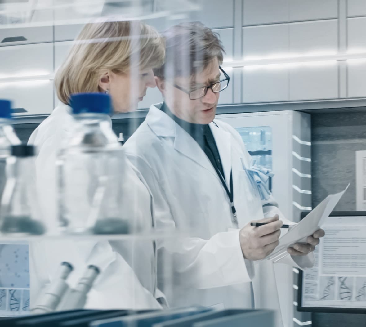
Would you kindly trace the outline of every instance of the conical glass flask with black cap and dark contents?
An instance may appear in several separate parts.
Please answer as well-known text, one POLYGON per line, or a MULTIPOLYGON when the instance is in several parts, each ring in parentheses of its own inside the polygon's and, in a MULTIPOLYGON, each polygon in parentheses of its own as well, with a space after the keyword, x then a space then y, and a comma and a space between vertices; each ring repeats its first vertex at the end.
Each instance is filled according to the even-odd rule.
POLYGON ((0 231, 5 234, 43 234, 36 186, 33 145, 12 145, 1 198, 0 231))

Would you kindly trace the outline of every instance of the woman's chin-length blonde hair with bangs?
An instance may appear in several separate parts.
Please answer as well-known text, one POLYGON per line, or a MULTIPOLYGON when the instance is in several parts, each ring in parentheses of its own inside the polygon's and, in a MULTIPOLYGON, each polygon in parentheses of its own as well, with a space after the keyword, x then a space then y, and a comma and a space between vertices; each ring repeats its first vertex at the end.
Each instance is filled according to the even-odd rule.
POLYGON ((57 97, 69 104, 80 92, 101 92, 100 77, 127 73, 164 63, 165 45, 159 33, 139 21, 102 21, 84 26, 55 76, 57 97), (137 66, 137 67, 136 67, 137 66))

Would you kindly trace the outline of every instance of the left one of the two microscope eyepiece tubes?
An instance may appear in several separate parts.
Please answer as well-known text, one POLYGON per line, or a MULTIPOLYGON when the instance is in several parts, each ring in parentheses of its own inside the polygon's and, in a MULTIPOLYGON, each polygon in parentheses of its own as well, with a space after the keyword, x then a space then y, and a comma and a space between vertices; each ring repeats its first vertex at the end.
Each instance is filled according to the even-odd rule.
POLYGON ((31 310, 32 313, 47 313, 55 311, 66 291, 69 289, 66 279, 73 267, 68 262, 61 263, 52 282, 42 291, 37 299, 37 304, 31 310))

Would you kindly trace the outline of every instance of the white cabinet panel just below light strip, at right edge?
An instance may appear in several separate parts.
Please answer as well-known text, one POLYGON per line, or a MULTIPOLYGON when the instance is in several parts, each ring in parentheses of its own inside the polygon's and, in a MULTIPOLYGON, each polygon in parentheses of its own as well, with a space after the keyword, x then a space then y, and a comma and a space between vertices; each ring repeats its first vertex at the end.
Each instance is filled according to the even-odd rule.
POLYGON ((347 60, 348 97, 366 96, 366 60, 347 60))

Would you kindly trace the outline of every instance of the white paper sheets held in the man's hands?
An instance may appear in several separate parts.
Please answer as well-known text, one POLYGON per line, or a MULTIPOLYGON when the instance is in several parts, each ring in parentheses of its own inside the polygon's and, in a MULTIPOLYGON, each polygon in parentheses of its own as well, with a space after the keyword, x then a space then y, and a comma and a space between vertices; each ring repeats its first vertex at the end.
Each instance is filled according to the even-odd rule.
POLYGON ((298 242, 306 242, 306 238, 313 235, 322 226, 324 220, 330 215, 344 192, 348 189, 348 186, 350 184, 342 192, 329 194, 304 219, 294 227, 290 227, 290 230, 280 238, 280 244, 264 260, 268 259, 276 262, 288 254, 287 249, 292 245, 298 242))

